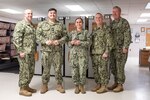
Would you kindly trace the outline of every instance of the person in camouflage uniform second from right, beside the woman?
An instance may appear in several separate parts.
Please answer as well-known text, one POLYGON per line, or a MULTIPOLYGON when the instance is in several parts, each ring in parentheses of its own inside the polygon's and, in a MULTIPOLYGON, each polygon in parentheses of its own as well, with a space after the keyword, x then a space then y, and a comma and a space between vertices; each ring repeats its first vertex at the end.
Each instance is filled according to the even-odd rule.
POLYGON ((92 91, 104 93, 107 92, 107 84, 109 81, 108 55, 112 48, 112 39, 110 36, 110 27, 103 22, 103 15, 101 13, 95 15, 95 22, 97 27, 94 28, 91 34, 92 45, 90 53, 94 78, 97 85, 92 91))

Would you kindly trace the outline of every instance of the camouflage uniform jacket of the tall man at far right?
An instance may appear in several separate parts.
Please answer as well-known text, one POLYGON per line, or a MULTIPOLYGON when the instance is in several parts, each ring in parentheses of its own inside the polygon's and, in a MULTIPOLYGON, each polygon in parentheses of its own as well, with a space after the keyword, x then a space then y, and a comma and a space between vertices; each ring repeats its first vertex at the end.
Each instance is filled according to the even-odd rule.
POLYGON ((120 18, 119 21, 112 21, 111 30, 115 49, 129 48, 131 43, 131 29, 128 21, 124 18, 120 18))

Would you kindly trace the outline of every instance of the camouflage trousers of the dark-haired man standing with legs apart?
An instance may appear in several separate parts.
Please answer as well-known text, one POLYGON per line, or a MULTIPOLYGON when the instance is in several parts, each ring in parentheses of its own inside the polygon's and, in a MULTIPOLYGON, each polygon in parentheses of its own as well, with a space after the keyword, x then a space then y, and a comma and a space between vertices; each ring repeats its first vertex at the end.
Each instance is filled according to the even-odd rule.
POLYGON ((50 80, 50 69, 54 67, 55 79, 58 84, 63 81, 61 67, 62 67, 62 53, 61 52, 44 52, 42 51, 42 65, 43 74, 42 82, 47 84, 50 80))

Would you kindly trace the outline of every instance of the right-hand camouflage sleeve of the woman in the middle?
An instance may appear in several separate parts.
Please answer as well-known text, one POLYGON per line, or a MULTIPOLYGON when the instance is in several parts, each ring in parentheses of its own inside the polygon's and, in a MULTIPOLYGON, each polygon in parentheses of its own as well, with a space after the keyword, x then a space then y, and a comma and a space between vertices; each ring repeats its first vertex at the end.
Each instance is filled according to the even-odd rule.
POLYGON ((84 40, 84 41, 81 41, 80 40, 80 45, 82 46, 82 47, 88 47, 90 44, 91 44, 91 39, 90 39, 90 35, 89 35, 89 33, 88 33, 88 31, 86 30, 85 31, 85 36, 86 36, 86 40, 84 40))

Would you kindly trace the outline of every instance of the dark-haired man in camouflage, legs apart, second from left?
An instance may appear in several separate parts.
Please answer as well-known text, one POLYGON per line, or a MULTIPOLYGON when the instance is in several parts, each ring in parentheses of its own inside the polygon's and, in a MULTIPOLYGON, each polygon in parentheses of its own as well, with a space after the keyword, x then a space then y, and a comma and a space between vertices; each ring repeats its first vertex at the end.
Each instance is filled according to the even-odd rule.
POLYGON ((66 33, 63 30, 63 25, 56 20, 57 10, 51 8, 48 10, 48 20, 45 20, 38 24, 36 35, 37 40, 42 46, 42 87, 41 94, 48 91, 48 82, 50 79, 51 66, 54 67, 55 78, 57 81, 56 89, 65 93, 62 86, 62 44, 66 41, 66 33))

